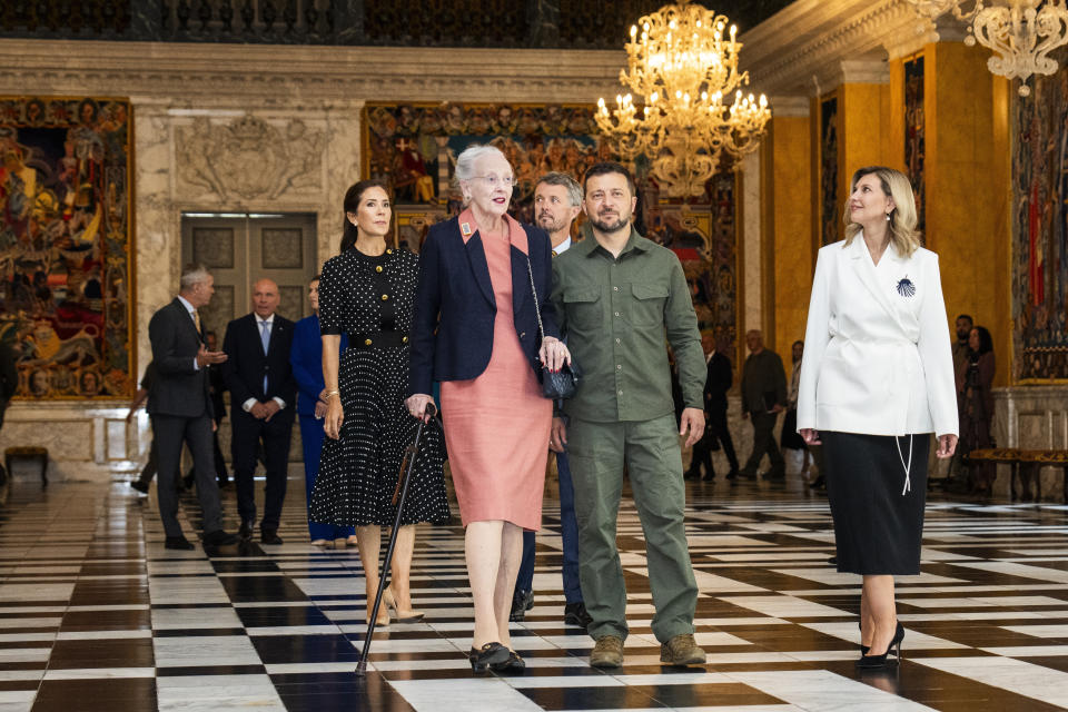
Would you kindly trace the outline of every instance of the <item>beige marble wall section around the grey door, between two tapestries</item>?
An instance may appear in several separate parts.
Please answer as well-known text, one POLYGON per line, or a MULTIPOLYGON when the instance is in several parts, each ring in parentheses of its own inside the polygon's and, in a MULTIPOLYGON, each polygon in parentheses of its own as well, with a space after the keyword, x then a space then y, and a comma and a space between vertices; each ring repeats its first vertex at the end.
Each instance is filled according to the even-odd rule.
POLYGON ((151 359, 148 320, 174 298, 182 212, 309 212, 318 260, 336 250, 340 202, 359 178, 363 101, 135 102, 138 191, 138 364, 151 359))

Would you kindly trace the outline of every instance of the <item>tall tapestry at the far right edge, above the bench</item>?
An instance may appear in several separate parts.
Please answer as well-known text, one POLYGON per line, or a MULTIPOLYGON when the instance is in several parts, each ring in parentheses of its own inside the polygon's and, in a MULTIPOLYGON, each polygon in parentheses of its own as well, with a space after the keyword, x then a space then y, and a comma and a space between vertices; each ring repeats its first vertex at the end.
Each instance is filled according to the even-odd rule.
MULTIPOLYGON (((1068 379, 1068 67, 1013 109, 1013 377, 1068 379)), ((981 317, 977 315, 977 320, 981 317)))

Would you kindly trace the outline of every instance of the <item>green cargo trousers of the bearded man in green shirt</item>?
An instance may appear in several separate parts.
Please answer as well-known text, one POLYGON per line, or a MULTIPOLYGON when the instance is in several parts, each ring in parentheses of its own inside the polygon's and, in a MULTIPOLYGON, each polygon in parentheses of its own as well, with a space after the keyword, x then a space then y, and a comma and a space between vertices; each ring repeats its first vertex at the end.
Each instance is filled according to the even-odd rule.
POLYGON ((624 464, 645 534, 656 609, 653 634, 663 643, 693 633, 698 584, 683 523, 686 494, 674 415, 614 423, 571 418, 567 457, 578 520, 578 578, 593 617, 591 637, 625 640, 627 633, 626 587, 615 546, 624 464))

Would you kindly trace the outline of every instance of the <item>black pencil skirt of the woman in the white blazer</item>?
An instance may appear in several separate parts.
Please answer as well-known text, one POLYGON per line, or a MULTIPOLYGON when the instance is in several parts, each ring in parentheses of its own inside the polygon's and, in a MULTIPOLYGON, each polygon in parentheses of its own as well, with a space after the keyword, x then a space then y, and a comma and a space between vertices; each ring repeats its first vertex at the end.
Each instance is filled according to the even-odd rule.
POLYGON ((930 434, 896 438, 820 431, 820 439, 838 571, 919 574, 930 434), (910 459, 909 488, 902 494, 910 459))

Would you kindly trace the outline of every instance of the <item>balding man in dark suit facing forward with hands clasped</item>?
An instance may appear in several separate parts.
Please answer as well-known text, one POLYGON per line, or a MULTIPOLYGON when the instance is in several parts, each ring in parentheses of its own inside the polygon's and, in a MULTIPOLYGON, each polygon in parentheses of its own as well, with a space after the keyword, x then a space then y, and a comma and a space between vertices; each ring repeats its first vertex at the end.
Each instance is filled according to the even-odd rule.
POLYGON ((259 523, 260 542, 281 544, 278 522, 286 497, 289 465, 289 434, 293 429, 297 382, 289 365, 294 325, 275 314, 278 285, 260 279, 253 286, 253 313, 234 319, 226 327, 222 350, 222 379, 230 392, 230 453, 237 483, 237 512, 241 516, 240 535, 251 538, 256 521, 257 446, 263 441, 267 465, 264 517, 259 523))

